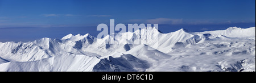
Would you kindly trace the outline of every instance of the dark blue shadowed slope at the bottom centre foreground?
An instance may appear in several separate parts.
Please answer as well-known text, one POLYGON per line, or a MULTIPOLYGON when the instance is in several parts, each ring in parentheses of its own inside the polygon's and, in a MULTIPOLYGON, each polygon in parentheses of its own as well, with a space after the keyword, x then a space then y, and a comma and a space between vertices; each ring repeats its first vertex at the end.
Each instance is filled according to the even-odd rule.
POLYGON ((150 68, 147 61, 140 60, 133 55, 121 55, 120 57, 109 56, 101 59, 100 63, 94 66, 94 72, 129 72, 146 71, 150 68))

